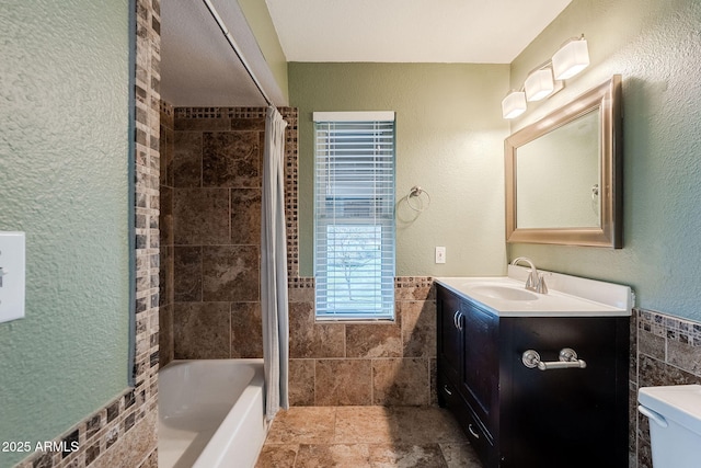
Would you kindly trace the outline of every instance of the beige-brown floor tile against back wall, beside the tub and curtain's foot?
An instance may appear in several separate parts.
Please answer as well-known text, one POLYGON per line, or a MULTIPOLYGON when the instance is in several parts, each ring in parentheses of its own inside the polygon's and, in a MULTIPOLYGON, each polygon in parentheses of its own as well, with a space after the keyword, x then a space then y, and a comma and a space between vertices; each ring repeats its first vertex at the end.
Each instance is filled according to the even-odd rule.
POLYGON ((329 444, 333 438, 336 409, 292 407, 275 416, 266 444, 329 444))

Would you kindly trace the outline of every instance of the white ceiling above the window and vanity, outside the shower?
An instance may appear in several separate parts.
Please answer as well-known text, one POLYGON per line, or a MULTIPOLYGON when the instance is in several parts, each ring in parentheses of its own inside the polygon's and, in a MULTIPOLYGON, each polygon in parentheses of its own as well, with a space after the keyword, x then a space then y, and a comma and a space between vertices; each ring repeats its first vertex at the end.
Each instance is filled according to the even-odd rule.
POLYGON ((510 64, 571 0, 265 0, 288 61, 510 64))

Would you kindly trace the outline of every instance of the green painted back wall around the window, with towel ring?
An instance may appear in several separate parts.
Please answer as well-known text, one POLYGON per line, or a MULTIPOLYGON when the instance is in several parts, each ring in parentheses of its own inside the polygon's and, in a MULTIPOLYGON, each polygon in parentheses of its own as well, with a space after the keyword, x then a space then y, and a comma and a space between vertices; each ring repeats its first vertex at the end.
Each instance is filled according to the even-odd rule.
POLYGON ((290 104, 299 107, 300 274, 311 276, 314 111, 397 112, 397 274, 498 275, 504 244, 499 101, 507 65, 289 64, 290 104), (430 206, 412 212, 412 186, 430 206), (445 246, 447 262, 434 263, 445 246))

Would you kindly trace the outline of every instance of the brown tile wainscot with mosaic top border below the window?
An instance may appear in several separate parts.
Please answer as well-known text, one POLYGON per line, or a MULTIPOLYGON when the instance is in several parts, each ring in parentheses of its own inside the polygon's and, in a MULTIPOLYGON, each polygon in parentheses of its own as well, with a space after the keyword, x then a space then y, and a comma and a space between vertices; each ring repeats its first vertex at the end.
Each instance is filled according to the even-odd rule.
POLYGON ((317 322, 313 278, 290 282, 290 404, 436 403, 429 277, 398 277, 393 323, 317 322))

